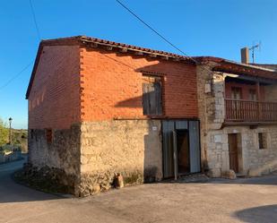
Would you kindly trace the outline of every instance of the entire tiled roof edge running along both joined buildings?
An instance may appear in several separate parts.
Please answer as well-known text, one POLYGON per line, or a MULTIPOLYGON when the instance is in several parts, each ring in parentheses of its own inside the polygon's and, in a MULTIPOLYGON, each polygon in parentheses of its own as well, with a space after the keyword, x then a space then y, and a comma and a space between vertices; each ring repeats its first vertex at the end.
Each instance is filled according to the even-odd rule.
POLYGON ((107 50, 113 50, 121 53, 130 53, 138 56, 151 56, 157 58, 163 58, 166 60, 174 60, 185 63, 193 63, 193 64, 206 64, 208 62, 215 62, 216 65, 213 67, 214 71, 226 72, 226 73, 238 73, 238 74, 247 74, 251 76, 258 76, 262 78, 274 79, 277 80, 277 71, 269 68, 265 68, 258 65, 253 64, 240 64, 238 62, 230 61, 220 57, 214 56, 181 56, 173 53, 169 53, 166 51, 155 50, 151 48, 145 47, 136 47, 133 45, 118 43, 114 41, 109 41, 105 39, 97 39, 90 38, 86 36, 75 36, 68 38, 59 38, 59 39, 47 39, 42 40, 39 43, 39 49, 36 56, 35 64, 33 66, 33 70, 30 76, 29 86, 26 92, 26 99, 29 98, 30 89, 32 82, 35 77, 35 73, 37 71, 37 67, 39 64, 39 56, 42 52, 42 48, 44 46, 83 46, 83 47, 93 47, 93 48, 105 48, 107 50))

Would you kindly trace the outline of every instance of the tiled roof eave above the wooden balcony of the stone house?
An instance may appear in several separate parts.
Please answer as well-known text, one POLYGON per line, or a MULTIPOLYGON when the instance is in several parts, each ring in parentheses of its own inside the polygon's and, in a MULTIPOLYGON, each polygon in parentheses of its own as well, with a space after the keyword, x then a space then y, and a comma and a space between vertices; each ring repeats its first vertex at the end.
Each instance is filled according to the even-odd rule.
POLYGON ((216 63, 212 68, 213 71, 245 74, 254 77, 277 80, 277 71, 268 67, 262 67, 255 64, 241 64, 235 61, 214 56, 194 56, 193 58, 199 64, 206 64, 209 62, 216 63))

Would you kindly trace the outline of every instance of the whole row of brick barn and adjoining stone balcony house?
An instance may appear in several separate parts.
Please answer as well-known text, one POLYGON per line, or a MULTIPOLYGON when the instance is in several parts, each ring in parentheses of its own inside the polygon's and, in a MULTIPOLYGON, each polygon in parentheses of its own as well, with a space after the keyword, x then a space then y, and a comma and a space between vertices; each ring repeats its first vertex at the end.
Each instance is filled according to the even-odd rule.
POLYGON ((107 190, 117 174, 141 184, 271 171, 277 71, 268 65, 82 36, 43 40, 26 94, 29 163, 50 167, 77 196, 107 190))

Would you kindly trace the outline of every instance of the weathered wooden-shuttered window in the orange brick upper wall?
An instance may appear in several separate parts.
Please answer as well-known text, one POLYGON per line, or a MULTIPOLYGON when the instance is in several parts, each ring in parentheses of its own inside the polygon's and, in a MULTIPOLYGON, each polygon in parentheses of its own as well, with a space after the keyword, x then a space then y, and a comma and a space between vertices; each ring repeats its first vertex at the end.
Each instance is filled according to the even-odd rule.
POLYGON ((143 115, 162 115, 160 77, 143 76, 143 115))

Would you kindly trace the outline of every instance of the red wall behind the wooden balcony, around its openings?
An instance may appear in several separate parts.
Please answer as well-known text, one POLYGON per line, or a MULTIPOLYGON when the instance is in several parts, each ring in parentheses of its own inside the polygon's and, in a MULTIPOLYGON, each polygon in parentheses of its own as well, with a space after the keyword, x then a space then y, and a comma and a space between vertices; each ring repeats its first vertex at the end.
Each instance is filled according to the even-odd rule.
MULTIPOLYGON (((256 90, 255 85, 237 83, 237 82, 226 82, 225 83, 225 97, 226 99, 231 99, 231 88, 241 88, 242 91, 242 99, 249 99, 249 90, 256 90)), ((260 86, 260 96, 261 100, 264 100, 264 86, 260 86)))

